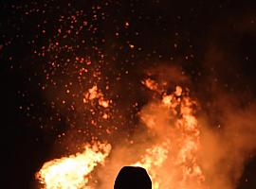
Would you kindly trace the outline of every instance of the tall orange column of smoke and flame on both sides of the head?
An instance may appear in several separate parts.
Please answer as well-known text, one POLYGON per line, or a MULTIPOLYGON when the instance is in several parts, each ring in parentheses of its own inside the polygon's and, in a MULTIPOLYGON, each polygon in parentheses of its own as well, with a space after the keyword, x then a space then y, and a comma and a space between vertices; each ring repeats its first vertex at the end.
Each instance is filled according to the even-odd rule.
POLYGON ((114 142, 105 166, 97 171, 100 188, 112 188, 123 165, 145 167, 155 189, 201 187, 204 176, 196 160, 199 128, 193 115, 196 103, 186 87, 177 86, 186 86, 188 77, 170 66, 150 69, 147 75, 145 79, 150 80, 141 87, 149 91, 149 100, 137 113, 137 129, 128 143, 127 136, 116 138, 118 143, 114 142))

